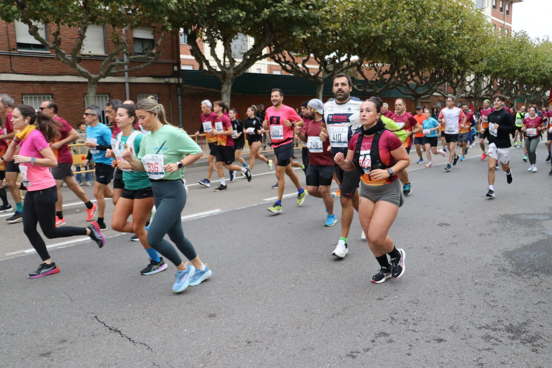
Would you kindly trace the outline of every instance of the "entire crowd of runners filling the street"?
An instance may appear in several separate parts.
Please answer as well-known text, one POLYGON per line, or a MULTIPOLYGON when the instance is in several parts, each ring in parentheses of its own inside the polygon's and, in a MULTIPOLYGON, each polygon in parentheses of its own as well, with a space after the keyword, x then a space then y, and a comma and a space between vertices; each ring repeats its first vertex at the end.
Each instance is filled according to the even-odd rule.
MULTIPOLYGON (((352 81, 346 74, 333 78, 333 98, 323 103, 319 99, 305 101, 300 111, 286 106, 282 90, 270 94, 272 106, 250 106, 245 119, 222 101, 201 102, 201 125, 195 135, 205 134, 208 145, 207 177, 199 184, 210 187, 216 168, 220 185, 215 191, 227 190, 225 169, 232 182, 235 175, 252 181, 256 160, 275 169, 277 200, 268 211, 283 212, 286 176, 297 189, 296 205, 301 206, 309 195, 320 198, 326 207, 323 223, 334 226, 337 218, 334 203, 341 204, 341 234, 332 255, 344 258, 348 253, 349 230, 354 212, 358 212, 362 234, 374 254, 379 271, 371 281, 384 282, 399 278, 405 272, 405 250, 397 249, 388 236, 404 196, 412 193, 408 178, 408 154, 415 146, 417 163, 431 168, 432 155, 448 154, 444 169, 450 172, 464 161, 473 140, 479 136, 481 160, 488 162, 489 186, 486 196, 495 196, 495 170, 500 162, 507 183, 512 183, 511 136, 514 147, 525 141, 523 161, 529 162, 530 172, 537 172, 537 145, 548 132, 548 157, 552 144, 552 111, 540 111, 536 106, 523 106, 519 111, 508 109, 506 97, 497 94, 485 100, 482 109, 473 105, 457 106, 454 96, 440 111, 416 107, 416 114, 406 111, 402 98, 395 101, 394 111, 380 98, 361 100, 351 96, 352 81), (492 106, 492 107, 491 107, 492 106), (479 111, 478 111, 479 110, 479 111), (438 134, 441 137, 439 146, 438 134), (274 150, 274 161, 259 153, 268 140, 274 150), (249 161, 242 150, 250 148, 249 161), (302 145, 302 163, 293 161, 296 140, 302 145), (234 164, 238 161, 240 165, 234 164), (305 174, 305 186, 294 167, 305 174), (331 191, 332 183, 337 185, 331 191)), ((188 188, 184 168, 193 164, 203 150, 187 132, 170 125, 163 105, 148 98, 137 103, 110 100, 104 107, 105 117, 113 131, 100 122, 102 109, 87 106, 83 121, 86 128, 76 131, 58 114, 52 100, 44 101, 38 111, 29 105, 14 105, 9 95, 0 95, 0 116, 4 119, 4 134, 0 135, 0 182, 12 195, 9 204, 7 191, 0 186, 0 212, 14 211, 9 223, 23 223, 23 231, 39 254, 42 263, 29 274, 38 278, 59 272, 37 231, 40 225, 47 238, 89 236, 102 248, 107 229, 104 222, 105 199, 112 199, 115 209, 110 226, 115 231, 134 233, 131 240, 142 244, 149 262, 143 275, 167 269, 164 259, 177 269, 172 291, 181 292, 188 286, 199 285, 211 276, 211 270, 199 259, 194 246, 185 237, 181 212, 188 188), (72 142, 84 142, 88 154, 83 168, 94 164, 94 199, 82 188, 82 178, 72 171, 72 142), (77 180, 78 179, 78 180, 77 180), (113 181, 112 187, 110 187, 113 181), (63 217, 60 186, 73 191, 86 208, 87 227, 66 226, 63 217), (23 192, 21 190, 24 190, 23 192), (24 193, 24 200, 20 193, 24 193), (129 221, 129 218, 131 221, 129 221), (177 249, 189 261, 184 262, 177 249)), ((1 131, 0 131, 1 132, 1 131)), ((552 170, 550 171, 552 175, 552 170)), ((302 175, 302 174, 301 174, 302 175)), ((89 183, 90 177, 85 182, 89 183)), ((315 199, 312 199, 315 200, 315 199)))

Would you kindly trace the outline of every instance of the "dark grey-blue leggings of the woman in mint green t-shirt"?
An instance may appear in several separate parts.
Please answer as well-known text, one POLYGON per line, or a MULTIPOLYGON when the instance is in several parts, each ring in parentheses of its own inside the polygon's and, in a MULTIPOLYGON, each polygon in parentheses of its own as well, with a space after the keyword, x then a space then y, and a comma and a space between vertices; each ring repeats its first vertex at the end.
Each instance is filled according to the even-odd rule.
POLYGON ((163 237, 165 234, 189 260, 197 257, 192 243, 182 231, 181 212, 186 204, 186 190, 181 180, 152 181, 153 202, 157 211, 147 232, 147 242, 174 265, 182 263, 176 249, 163 237))

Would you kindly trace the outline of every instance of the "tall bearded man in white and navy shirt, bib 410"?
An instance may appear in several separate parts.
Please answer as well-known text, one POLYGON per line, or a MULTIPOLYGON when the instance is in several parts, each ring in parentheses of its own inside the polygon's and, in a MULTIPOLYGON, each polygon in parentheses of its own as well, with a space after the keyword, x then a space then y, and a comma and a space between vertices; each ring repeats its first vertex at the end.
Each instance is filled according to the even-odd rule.
MULTIPOLYGON (((330 138, 332 157, 337 153, 347 153, 347 146, 353 134, 360 131, 360 105, 362 100, 352 97, 353 82, 347 74, 337 74, 333 77, 332 92, 335 99, 328 100, 324 105, 324 120, 320 125, 320 139, 330 138)), ((354 210, 358 212, 358 184, 360 174, 346 171, 335 163, 336 177, 339 185, 339 201, 341 202, 341 237, 333 250, 333 255, 343 258, 349 252, 347 238, 354 210)), ((362 238, 364 232, 360 234, 362 238)))

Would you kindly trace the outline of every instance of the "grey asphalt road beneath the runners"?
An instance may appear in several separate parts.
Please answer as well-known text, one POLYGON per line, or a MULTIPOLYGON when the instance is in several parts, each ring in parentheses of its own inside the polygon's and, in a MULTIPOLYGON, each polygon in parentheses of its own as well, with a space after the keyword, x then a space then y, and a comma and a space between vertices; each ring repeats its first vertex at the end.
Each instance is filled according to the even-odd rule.
MULTIPOLYGON (((226 192, 190 185, 184 232, 213 276, 179 295, 172 265, 141 276, 146 253, 112 230, 103 249, 52 239, 61 272, 28 279, 38 255, 24 252, 21 224, 2 223, 0 366, 550 367, 545 152, 539 145, 533 174, 512 150, 513 183, 497 171, 494 199, 479 149, 452 172, 436 165, 443 158, 430 169, 413 160, 413 191, 390 230, 406 273, 380 285, 358 217, 349 254, 336 259, 339 222, 323 227, 320 199, 297 207, 290 183, 284 213, 270 214, 275 178, 260 162, 251 183, 226 192)), ((188 169, 188 184, 205 170, 188 169)), ((72 225, 84 225, 82 207, 66 207, 72 225)))

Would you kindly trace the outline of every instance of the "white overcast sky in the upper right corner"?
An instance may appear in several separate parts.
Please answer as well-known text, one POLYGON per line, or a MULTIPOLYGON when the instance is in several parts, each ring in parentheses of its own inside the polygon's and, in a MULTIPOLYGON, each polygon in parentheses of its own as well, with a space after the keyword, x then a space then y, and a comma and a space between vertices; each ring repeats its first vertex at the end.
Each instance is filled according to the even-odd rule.
POLYGON ((512 6, 512 29, 526 31, 532 38, 549 36, 552 24, 552 0, 525 0, 512 6))

